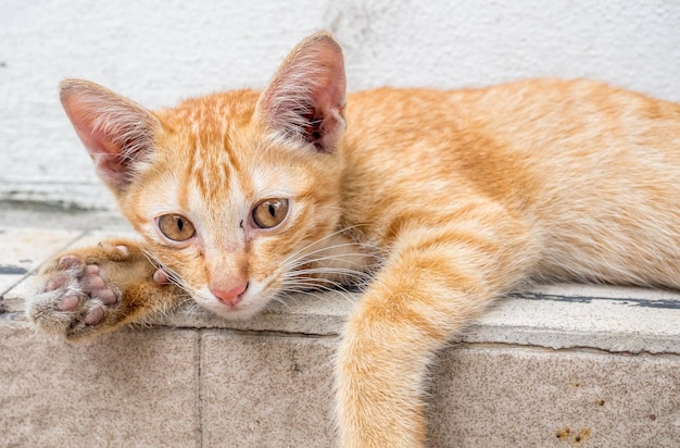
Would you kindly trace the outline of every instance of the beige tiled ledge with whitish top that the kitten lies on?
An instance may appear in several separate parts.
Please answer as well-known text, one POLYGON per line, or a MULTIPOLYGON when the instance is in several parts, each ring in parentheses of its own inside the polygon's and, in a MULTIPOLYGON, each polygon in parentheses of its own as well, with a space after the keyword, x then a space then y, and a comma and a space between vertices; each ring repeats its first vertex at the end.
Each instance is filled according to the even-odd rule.
MULTIPOLYGON (((52 253, 129 227, 113 212, 0 203, 0 446, 333 444, 331 360, 352 296, 234 323, 185 310, 77 346, 23 316, 52 253)), ((439 353, 430 445, 680 446, 680 296, 544 286, 439 353)))

